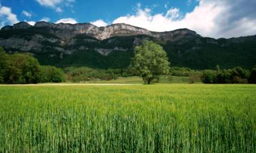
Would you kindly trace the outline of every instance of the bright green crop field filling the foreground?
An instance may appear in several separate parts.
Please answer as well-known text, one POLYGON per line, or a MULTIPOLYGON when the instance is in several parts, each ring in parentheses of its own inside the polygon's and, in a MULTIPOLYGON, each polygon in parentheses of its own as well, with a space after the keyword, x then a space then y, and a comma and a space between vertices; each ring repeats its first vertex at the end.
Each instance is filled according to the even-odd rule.
POLYGON ((256 86, 0 86, 0 152, 256 152, 256 86))

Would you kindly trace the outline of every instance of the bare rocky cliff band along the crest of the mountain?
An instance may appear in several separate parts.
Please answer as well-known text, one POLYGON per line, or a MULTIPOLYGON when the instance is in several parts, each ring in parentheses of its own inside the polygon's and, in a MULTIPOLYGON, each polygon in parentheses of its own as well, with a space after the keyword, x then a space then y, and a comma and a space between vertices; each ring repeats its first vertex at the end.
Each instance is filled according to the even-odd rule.
POLYGON ((90 23, 77 23, 77 24, 65 24, 59 23, 54 24, 50 22, 36 22, 34 26, 31 26, 27 22, 19 22, 14 24, 13 27, 7 26, 3 27, 1 31, 8 31, 12 29, 28 29, 28 28, 46 28, 49 33, 56 35, 60 39, 66 40, 75 37, 76 35, 89 35, 95 37, 99 40, 108 39, 113 36, 131 36, 131 35, 149 35, 151 37, 156 37, 160 39, 180 39, 186 37, 186 35, 199 36, 195 31, 190 31, 189 29, 179 29, 176 31, 169 32, 153 32, 147 29, 142 29, 139 27, 134 27, 129 24, 111 24, 106 27, 96 27, 94 24, 90 23), (178 35, 178 36, 177 36, 178 35), (174 37, 175 36, 175 37, 174 37))

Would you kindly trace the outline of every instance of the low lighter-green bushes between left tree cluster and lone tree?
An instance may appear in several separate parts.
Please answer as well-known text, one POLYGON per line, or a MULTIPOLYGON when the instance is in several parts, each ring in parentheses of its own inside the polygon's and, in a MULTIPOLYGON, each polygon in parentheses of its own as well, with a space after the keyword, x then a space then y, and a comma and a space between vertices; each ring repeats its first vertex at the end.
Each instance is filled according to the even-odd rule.
POLYGON ((67 67, 64 69, 67 80, 88 82, 94 80, 115 80, 118 77, 134 75, 129 69, 91 69, 89 67, 67 67))

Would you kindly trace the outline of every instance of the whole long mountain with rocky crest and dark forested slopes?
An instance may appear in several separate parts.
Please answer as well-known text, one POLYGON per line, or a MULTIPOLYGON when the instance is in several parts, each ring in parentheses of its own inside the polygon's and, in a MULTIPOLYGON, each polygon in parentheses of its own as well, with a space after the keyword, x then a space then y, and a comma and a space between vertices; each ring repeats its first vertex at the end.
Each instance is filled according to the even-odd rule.
POLYGON ((31 52, 42 65, 125 68, 134 46, 160 44, 172 66, 210 69, 256 65, 256 35, 231 39, 201 37, 189 29, 154 32, 129 24, 96 27, 90 23, 19 22, 3 27, 0 46, 12 53, 31 52))

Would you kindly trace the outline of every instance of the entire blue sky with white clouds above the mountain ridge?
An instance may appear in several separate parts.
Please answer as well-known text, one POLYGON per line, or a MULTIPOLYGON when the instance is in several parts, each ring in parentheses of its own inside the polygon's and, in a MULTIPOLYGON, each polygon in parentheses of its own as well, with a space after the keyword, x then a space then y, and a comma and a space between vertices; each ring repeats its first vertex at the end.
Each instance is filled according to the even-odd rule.
POLYGON ((0 0, 0 28, 20 21, 187 28, 203 37, 256 35, 256 0, 0 0))

